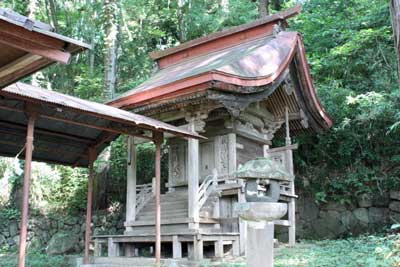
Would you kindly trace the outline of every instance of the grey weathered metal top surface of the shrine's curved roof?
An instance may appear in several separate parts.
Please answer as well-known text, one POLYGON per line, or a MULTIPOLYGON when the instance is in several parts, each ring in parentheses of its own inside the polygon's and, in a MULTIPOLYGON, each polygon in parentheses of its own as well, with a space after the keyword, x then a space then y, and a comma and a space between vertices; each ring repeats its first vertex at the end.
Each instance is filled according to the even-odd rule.
POLYGON ((296 42, 297 33, 281 32, 276 38, 266 36, 189 59, 158 71, 146 82, 122 94, 111 103, 192 77, 200 79, 204 76, 201 78, 202 82, 228 79, 230 83, 237 85, 264 85, 263 79, 273 78, 279 74, 282 63, 291 56, 296 42))

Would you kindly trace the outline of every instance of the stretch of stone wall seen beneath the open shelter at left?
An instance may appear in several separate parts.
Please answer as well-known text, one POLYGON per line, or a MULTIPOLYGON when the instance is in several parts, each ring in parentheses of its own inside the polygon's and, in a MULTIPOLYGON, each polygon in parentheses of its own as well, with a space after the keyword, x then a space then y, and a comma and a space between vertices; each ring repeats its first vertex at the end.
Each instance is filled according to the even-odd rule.
MULTIPOLYGON (((92 234, 122 234, 124 214, 95 212, 92 234)), ((84 249, 85 216, 31 215, 28 223, 28 250, 45 250, 48 254, 79 254, 84 249)), ((16 219, 0 220, 0 248, 17 249, 20 223, 16 219)))

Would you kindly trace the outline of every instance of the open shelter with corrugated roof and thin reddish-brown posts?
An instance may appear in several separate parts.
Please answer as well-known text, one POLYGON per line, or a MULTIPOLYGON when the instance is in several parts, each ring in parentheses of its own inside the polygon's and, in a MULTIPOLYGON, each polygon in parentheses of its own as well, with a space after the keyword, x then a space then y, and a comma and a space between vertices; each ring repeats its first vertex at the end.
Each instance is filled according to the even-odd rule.
POLYGON ((25 156, 19 267, 25 266, 32 160, 89 167, 84 254, 84 263, 88 264, 93 162, 120 134, 145 138, 156 145, 156 260, 160 262, 160 150, 163 133, 196 139, 201 136, 145 116, 23 83, 0 91, 0 132, 1 156, 25 156))

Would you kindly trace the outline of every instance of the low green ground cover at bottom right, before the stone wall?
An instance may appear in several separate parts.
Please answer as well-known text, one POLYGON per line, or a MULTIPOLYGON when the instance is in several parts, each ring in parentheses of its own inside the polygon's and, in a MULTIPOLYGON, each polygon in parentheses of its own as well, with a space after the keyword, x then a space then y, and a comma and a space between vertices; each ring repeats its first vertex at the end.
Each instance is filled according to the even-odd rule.
POLYGON ((364 236, 346 240, 306 241, 278 252, 275 266, 393 267, 400 264, 400 236, 364 236))

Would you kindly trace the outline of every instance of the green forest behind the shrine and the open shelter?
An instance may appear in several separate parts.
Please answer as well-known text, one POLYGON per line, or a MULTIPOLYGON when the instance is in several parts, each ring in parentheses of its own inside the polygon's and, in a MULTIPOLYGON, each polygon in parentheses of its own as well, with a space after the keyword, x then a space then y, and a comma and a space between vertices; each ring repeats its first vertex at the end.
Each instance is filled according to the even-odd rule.
MULTIPOLYGON (((316 202, 350 204, 364 193, 400 187, 400 90, 386 0, 3 0, 7 7, 49 23, 93 49, 71 64, 53 65, 24 81, 105 102, 145 81, 154 50, 240 25, 302 4, 290 30, 304 39, 317 94, 334 126, 297 136, 296 183, 316 202)), ((277 140, 279 143, 279 140, 277 140)), ((154 176, 151 144, 139 147, 139 183, 154 176)), ((163 178, 167 174, 163 153, 163 178)), ((0 159, 0 206, 18 214, 23 162, 0 159)), ((86 170, 35 164, 31 206, 40 212, 80 213, 86 170)), ((125 203, 126 141, 113 142, 97 162, 97 209, 125 203)))

